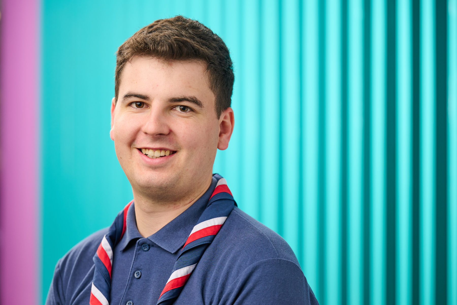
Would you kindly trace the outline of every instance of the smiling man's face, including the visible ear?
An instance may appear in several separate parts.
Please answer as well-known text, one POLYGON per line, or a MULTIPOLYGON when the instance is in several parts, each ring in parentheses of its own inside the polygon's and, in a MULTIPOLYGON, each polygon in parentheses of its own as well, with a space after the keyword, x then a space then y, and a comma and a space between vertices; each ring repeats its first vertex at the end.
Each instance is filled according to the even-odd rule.
POLYGON ((233 130, 231 108, 219 119, 214 109, 203 63, 136 57, 125 66, 110 135, 134 193, 172 201, 208 184, 233 130))

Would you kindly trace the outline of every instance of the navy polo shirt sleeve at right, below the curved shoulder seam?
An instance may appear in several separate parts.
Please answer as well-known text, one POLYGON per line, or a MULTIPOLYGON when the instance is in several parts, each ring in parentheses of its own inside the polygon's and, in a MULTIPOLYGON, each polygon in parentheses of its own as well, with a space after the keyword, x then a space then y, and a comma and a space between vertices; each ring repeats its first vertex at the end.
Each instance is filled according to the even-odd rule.
POLYGON ((227 304, 319 305, 300 267, 283 258, 250 265, 232 287, 227 304))

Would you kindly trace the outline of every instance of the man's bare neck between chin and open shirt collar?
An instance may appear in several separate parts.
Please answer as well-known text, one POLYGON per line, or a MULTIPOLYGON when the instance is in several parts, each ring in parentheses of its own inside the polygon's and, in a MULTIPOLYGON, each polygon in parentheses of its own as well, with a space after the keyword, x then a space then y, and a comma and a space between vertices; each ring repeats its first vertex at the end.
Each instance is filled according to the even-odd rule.
POLYGON ((201 187, 197 187, 194 192, 166 203, 133 190, 138 232, 143 237, 148 237, 162 229, 171 220, 188 209, 198 198, 202 197, 211 185, 211 181, 212 176, 202 183, 201 187))

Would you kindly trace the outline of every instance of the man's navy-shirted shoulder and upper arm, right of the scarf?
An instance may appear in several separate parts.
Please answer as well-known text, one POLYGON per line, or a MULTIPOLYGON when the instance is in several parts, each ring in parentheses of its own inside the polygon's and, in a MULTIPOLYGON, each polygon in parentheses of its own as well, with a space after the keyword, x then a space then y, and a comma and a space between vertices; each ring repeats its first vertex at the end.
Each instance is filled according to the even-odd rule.
POLYGON ((202 285, 208 303, 314 304, 309 301, 311 292, 292 248, 237 207, 201 262, 189 286, 202 285))

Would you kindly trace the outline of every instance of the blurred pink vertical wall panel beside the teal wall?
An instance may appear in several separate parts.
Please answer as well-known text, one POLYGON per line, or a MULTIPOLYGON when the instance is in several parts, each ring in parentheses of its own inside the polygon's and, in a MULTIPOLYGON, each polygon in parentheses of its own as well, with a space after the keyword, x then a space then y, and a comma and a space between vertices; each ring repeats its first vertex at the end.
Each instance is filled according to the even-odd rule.
POLYGON ((0 304, 37 304, 39 1, 1 1, 0 304))

